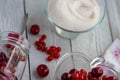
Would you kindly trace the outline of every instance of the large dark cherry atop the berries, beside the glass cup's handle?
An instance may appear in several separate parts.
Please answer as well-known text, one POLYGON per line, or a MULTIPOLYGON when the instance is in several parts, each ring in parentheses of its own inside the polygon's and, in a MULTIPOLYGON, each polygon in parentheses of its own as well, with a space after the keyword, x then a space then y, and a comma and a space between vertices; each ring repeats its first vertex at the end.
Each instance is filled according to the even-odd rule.
POLYGON ((91 74, 93 77, 101 77, 103 75, 103 69, 101 67, 95 67, 92 69, 91 74))

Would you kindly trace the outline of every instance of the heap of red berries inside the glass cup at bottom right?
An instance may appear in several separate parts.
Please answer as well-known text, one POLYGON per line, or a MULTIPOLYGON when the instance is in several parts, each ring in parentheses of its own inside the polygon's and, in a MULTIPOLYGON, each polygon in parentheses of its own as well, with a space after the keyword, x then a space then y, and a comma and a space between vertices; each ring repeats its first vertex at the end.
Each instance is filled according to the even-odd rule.
POLYGON ((61 76, 61 80, 117 80, 115 76, 103 75, 101 67, 95 67, 87 73, 84 69, 80 71, 71 69, 69 73, 65 72, 61 76))

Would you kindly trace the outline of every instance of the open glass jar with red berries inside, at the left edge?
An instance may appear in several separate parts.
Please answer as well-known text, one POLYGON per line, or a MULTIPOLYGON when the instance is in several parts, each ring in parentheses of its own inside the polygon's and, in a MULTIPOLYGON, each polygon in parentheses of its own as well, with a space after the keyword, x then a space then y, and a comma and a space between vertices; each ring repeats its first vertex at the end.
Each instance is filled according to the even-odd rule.
POLYGON ((0 33, 0 80, 21 80, 29 42, 15 32, 0 33))

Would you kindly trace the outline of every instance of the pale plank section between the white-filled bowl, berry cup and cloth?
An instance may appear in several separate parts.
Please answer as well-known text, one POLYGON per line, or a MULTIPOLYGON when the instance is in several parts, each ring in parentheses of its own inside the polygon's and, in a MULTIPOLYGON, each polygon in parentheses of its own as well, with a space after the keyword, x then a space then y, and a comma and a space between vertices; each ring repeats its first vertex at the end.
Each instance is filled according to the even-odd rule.
POLYGON ((73 51, 83 52, 91 59, 103 55, 111 43, 112 38, 107 16, 95 29, 80 33, 76 39, 72 40, 73 51))

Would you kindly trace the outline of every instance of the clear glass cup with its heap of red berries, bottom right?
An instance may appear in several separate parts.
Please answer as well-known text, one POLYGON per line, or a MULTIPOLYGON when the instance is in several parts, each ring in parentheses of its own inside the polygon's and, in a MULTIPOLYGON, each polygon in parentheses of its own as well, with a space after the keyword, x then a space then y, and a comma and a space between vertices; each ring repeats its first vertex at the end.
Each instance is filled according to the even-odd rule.
POLYGON ((80 52, 66 53, 57 63, 54 80, 118 80, 114 69, 91 66, 91 59, 80 52))

